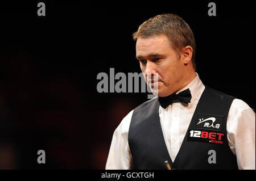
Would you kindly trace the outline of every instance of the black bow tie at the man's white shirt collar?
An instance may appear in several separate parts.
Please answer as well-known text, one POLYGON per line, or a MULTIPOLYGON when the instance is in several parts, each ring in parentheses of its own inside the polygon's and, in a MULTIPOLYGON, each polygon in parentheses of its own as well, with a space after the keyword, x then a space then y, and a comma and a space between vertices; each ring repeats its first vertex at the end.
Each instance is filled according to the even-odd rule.
POLYGON ((189 89, 181 91, 179 94, 171 94, 166 97, 159 97, 158 101, 163 108, 167 108, 170 104, 174 102, 182 102, 185 104, 190 103, 191 93, 189 89))

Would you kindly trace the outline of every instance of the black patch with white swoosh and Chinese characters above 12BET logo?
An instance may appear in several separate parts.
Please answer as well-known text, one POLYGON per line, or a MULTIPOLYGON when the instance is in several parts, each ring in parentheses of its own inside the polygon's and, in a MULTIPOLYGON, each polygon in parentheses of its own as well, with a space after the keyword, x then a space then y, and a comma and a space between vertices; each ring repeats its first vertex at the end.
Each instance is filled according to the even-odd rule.
POLYGON ((207 129, 212 131, 221 131, 223 116, 197 114, 196 129, 207 129))

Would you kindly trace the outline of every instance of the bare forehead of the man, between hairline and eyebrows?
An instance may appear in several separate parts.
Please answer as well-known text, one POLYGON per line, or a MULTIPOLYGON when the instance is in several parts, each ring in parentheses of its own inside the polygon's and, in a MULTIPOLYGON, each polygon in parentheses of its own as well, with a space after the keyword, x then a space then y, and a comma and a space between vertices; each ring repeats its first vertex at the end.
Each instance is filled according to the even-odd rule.
POLYGON ((149 54, 164 54, 171 49, 170 41, 165 35, 147 38, 139 37, 136 43, 136 56, 148 56, 149 54))

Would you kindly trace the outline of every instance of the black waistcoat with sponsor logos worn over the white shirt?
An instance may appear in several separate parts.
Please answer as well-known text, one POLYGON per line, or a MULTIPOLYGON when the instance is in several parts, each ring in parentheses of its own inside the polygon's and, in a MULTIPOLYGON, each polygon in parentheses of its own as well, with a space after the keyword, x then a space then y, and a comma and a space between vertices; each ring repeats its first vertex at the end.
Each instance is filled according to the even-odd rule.
POLYGON ((174 162, 164 142, 158 99, 135 108, 128 134, 134 169, 167 169, 164 161, 172 169, 238 169, 226 136, 226 120, 233 99, 205 88, 174 162))

